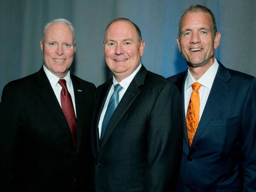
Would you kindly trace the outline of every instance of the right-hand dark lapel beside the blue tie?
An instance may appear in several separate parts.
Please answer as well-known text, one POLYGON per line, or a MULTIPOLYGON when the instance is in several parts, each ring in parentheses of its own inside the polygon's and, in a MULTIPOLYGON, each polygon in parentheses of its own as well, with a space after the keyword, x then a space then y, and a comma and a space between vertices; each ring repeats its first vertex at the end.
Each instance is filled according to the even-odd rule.
POLYGON ((134 99, 139 95, 141 89, 139 88, 140 85, 144 84, 145 76, 147 70, 144 66, 140 68, 134 79, 131 81, 128 89, 125 91, 124 96, 122 97, 121 101, 119 102, 113 116, 111 117, 108 127, 105 131, 105 135, 102 138, 102 142, 99 148, 99 153, 102 151, 102 148, 108 141, 110 135, 112 134, 113 130, 116 128, 117 123, 134 102, 134 99))

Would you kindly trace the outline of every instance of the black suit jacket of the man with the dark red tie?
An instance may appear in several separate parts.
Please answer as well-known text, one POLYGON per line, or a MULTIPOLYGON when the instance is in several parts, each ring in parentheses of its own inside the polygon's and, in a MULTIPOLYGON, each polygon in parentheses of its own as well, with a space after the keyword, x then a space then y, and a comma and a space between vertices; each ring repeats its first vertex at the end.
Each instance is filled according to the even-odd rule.
POLYGON ((0 104, 3 191, 72 192, 89 188, 89 127, 95 86, 73 75, 71 79, 76 102, 76 148, 43 68, 4 87, 0 104))

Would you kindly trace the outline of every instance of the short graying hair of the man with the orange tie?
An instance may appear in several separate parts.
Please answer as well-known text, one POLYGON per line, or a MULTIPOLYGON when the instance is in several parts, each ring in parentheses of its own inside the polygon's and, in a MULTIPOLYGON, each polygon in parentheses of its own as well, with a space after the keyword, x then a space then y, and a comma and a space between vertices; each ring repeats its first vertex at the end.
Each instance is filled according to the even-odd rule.
POLYGON ((183 12, 182 16, 180 17, 180 22, 179 22, 179 32, 178 32, 178 37, 180 38, 181 36, 181 29, 180 29, 180 24, 181 24, 181 20, 184 17, 184 15, 189 14, 189 13, 196 13, 196 12, 204 12, 207 13, 211 16, 212 18, 212 33, 215 36, 217 33, 217 26, 216 26, 216 21, 215 21, 215 17, 212 13, 212 11, 210 9, 208 9, 205 6, 201 6, 201 5, 191 5, 188 6, 185 11, 183 12))

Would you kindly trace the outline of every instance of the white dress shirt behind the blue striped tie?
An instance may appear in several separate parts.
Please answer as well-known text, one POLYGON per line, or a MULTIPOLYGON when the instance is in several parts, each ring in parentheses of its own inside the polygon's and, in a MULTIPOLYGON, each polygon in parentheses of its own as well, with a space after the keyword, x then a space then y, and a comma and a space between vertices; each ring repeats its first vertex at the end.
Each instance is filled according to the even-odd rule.
MULTIPOLYGON (((129 87, 131 81, 134 79, 134 76, 140 70, 140 67, 141 67, 141 64, 137 67, 137 69, 133 73, 131 73, 130 76, 126 77, 125 79, 123 79, 122 81, 119 82, 119 84, 123 87, 122 90, 119 92, 119 102, 121 101, 122 97, 124 96, 125 91, 129 87)), ((116 81, 115 77, 113 76, 113 84, 112 84, 112 86, 111 86, 111 88, 110 88, 110 90, 108 92, 108 97, 106 99, 105 105, 104 105, 104 107, 102 109, 102 113, 101 113, 100 119, 99 119, 99 126, 98 126, 98 128, 99 128, 99 138, 100 138, 100 134, 101 134, 101 130, 102 130, 102 122, 103 122, 105 113, 106 113, 107 108, 108 108, 108 102, 110 100, 111 95, 114 92, 114 86, 116 84, 118 84, 118 82, 116 81)))

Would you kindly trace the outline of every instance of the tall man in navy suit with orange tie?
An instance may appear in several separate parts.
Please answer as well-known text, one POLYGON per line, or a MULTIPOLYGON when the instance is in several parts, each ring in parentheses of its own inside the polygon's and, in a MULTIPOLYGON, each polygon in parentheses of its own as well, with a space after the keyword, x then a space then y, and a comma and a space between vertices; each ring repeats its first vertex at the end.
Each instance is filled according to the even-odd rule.
POLYGON ((168 78, 184 110, 177 192, 256 190, 256 79, 215 59, 220 38, 207 7, 185 10, 177 44, 188 70, 168 78))

